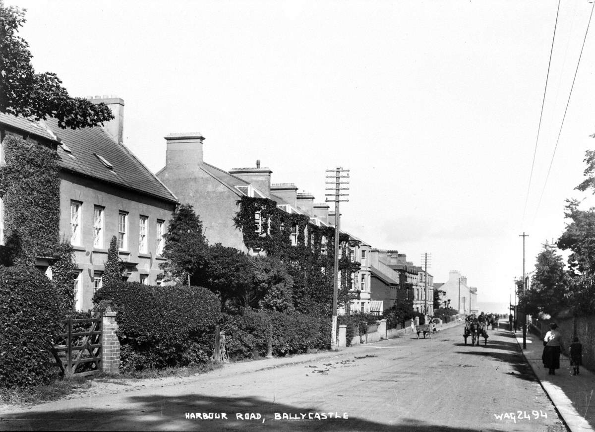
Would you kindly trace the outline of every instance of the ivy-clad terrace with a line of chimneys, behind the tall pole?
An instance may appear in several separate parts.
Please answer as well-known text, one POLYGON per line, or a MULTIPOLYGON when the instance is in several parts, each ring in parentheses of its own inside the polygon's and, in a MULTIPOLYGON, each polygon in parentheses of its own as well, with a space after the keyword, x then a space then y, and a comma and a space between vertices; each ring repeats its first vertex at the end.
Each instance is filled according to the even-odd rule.
MULTIPOLYGON (((293 278, 296 309, 330 314, 334 227, 328 205, 315 204, 310 193, 297 193, 293 183, 271 184, 273 171, 259 161, 256 167, 230 171, 206 163, 202 134, 169 134, 165 140, 165 167, 156 176, 193 206, 209 243, 280 259, 293 278)), ((341 234, 339 304, 355 295, 352 276, 359 259, 350 257, 358 243, 341 234)))

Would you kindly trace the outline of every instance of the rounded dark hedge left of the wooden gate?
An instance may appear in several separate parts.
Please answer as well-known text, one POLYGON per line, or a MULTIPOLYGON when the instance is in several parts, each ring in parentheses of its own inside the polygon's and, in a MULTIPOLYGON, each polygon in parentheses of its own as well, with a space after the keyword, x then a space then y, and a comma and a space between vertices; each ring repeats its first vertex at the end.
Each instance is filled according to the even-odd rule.
POLYGON ((33 267, 0 267, 0 385, 49 383, 59 369, 49 347, 60 333, 60 299, 52 282, 33 267))

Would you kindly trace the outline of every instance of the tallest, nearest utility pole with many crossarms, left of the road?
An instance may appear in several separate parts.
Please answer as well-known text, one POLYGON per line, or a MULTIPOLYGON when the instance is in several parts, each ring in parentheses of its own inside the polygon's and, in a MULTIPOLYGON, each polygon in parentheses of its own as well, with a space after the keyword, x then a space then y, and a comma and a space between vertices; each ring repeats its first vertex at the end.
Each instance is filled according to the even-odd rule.
POLYGON ((349 201, 346 197, 349 193, 341 193, 345 190, 349 190, 349 187, 345 187, 349 184, 349 169, 343 167, 334 168, 334 170, 326 170, 326 190, 333 191, 332 193, 326 193, 326 202, 334 202, 335 204, 335 247, 334 247, 334 277, 333 277, 333 312, 331 315, 331 350, 336 351, 339 347, 337 346, 337 292, 339 290, 339 234, 341 226, 341 214, 339 212, 339 202, 349 201))

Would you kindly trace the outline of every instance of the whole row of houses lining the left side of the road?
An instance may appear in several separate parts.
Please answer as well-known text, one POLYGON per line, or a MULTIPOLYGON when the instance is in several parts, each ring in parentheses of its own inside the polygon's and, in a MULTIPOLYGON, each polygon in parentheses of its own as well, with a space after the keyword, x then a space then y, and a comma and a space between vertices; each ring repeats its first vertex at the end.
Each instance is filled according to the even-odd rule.
MULTIPOLYGON (((191 204, 195 208, 209 243, 221 243, 253 255, 262 251, 245 245, 243 233, 233 220, 242 197, 269 199, 288 214, 307 216, 312 226, 334 226, 336 215, 327 204, 316 203, 311 193, 297 192, 295 183, 272 183, 273 171, 261 167, 259 161, 254 167, 227 171, 205 162, 205 137, 201 133, 166 136, 165 166, 158 173, 151 173, 124 145, 124 101, 108 96, 90 100, 107 104, 114 120, 104 127, 72 130, 60 129, 51 118, 33 121, 0 114, 2 143, 5 136, 15 134, 57 152, 61 178, 60 234, 75 251, 77 309, 93 306, 91 299, 102 286, 112 236, 117 237, 127 280, 162 283, 159 264, 164 262, 161 256, 164 234, 167 221, 179 204, 191 204)), ((4 150, 0 146, 0 162, 3 158, 4 150)), ((0 222, 2 218, 4 214, 0 222)), ((255 212, 254 218, 255 230, 262 230, 259 212, 255 212)), ((381 314, 397 302, 408 300, 414 310, 434 314, 431 274, 407 261, 404 253, 373 248, 364 240, 345 234, 349 235, 349 242, 343 247, 351 248, 350 259, 359 263, 359 270, 351 278, 351 310, 381 314)), ((292 228, 290 237, 292 244, 297 243, 297 228, 295 232, 292 228)), ((322 247, 326 248, 325 243, 322 247)), ((36 264, 39 270, 46 271, 51 260, 39 257, 36 264)), ((452 275, 447 283, 440 285, 449 295, 453 289, 452 275)), ((472 289, 459 274, 457 287, 461 282, 465 295, 459 309, 465 311, 472 307, 472 289)), ((452 303, 450 306, 456 307, 452 303)))

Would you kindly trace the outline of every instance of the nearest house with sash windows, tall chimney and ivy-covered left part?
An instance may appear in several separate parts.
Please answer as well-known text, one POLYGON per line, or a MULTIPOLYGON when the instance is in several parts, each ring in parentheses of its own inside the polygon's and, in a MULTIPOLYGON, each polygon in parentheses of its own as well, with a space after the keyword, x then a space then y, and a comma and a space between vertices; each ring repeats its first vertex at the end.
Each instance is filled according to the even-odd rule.
MULTIPOLYGON (((102 285, 112 236, 118 240, 124 278, 161 283, 163 236, 171 212, 179 204, 176 196, 124 146, 122 99, 92 101, 108 104, 114 120, 104 127, 73 130, 61 129, 52 118, 32 121, 0 114, 0 161, 5 173, 33 169, 21 165, 34 164, 36 152, 51 149, 59 179, 54 183, 42 181, 25 190, 10 183, 17 183, 18 177, 3 176, 0 243, 14 242, 16 237, 34 231, 37 237, 43 231, 50 233, 51 241, 71 243, 76 262, 73 289, 79 310, 93 306, 91 298, 102 285), (52 199, 55 204, 43 207, 52 199), (35 217, 40 208, 49 213, 43 215, 42 222, 35 217)), ((48 170, 48 176, 52 175, 50 167, 35 170, 48 170)), ((36 250, 36 265, 49 276, 52 253, 43 252, 43 247, 36 250)))

